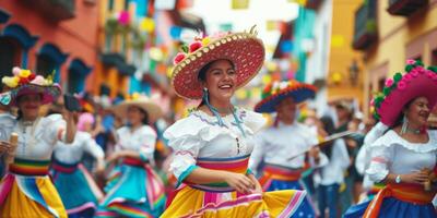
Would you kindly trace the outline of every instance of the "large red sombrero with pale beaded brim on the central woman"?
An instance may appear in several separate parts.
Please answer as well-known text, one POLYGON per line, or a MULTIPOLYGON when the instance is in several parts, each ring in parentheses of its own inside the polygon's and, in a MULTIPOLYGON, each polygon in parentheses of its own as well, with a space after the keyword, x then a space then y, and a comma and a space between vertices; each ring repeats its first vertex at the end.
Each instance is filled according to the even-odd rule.
POLYGON ((215 60, 229 60, 237 73, 237 88, 248 83, 261 69, 265 51, 257 38, 253 27, 244 33, 224 33, 211 37, 197 38, 189 46, 182 46, 174 60, 172 85, 176 94, 188 99, 202 98, 199 71, 215 60))

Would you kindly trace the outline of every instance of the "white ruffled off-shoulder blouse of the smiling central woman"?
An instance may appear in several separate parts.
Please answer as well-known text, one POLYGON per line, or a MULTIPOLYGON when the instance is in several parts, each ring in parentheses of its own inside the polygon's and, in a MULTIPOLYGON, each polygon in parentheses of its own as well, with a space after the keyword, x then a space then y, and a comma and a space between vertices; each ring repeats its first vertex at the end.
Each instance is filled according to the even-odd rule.
POLYGON ((191 112, 164 132, 164 137, 174 149, 170 171, 178 180, 191 166, 196 166, 198 157, 229 158, 252 152, 253 133, 265 124, 265 119, 260 113, 240 108, 235 113, 243 121, 246 136, 238 129, 233 114, 222 117, 224 126, 220 126, 217 118, 201 110, 191 112))

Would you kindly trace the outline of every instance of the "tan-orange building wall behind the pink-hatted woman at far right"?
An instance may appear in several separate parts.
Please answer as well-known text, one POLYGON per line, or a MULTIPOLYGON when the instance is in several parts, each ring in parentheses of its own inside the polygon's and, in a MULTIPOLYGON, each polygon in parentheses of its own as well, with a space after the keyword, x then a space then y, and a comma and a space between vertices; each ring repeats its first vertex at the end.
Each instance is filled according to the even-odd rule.
MULTIPOLYGON (((381 72, 377 72, 381 65, 387 65, 387 76, 392 76, 395 72, 403 72, 405 60, 413 58, 409 47, 418 44, 418 52, 426 65, 430 64, 432 50, 429 37, 424 40, 432 32, 437 32, 437 0, 430 0, 429 5, 416 11, 410 16, 393 16, 387 12, 388 1, 378 2, 378 41, 365 52, 366 73, 364 90, 364 112, 369 116, 369 101, 371 93, 381 87, 377 81, 381 72), (371 89, 370 89, 371 88, 371 89)), ((433 39, 433 40, 437 40, 433 39)), ((417 50, 413 49, 413 50, 417 50)))

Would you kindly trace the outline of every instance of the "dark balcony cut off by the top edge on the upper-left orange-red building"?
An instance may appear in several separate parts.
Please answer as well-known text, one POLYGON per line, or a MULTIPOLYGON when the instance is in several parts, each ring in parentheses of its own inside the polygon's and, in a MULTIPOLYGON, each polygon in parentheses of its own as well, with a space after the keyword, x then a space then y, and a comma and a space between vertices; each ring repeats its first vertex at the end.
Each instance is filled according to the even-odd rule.
POLYGON ((75 0, 22 0, 47 19, 59 22, 75 16, 75 0))

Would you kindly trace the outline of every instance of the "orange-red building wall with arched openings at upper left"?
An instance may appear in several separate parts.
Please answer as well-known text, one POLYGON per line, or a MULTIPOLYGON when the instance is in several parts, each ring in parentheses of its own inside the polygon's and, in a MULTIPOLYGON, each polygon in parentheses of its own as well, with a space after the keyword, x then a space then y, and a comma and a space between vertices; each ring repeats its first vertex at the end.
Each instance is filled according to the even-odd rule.
MULTIPOLYGON (((98 2, 98 1, 96 1, 98 2)), ((36 69, 36 55, 45 43, 51 43, 63 53, 69 53, 61 65, 61 83, 67 78, 68 66, 74 58, 81 59, 93 71, 86 77, 85 89, 93 90, 95 64, 97 62, 97 27, 98 3, 75 1, 75 17, 59 23, 54 23, 42 15, 39 11, 32 10, 16 0, 2 0, 0 8, 11 14, 8 24, 17 23, 24 26, 32 35, 39 36, 34 47, 28 51, 28 69, 36 69)))

